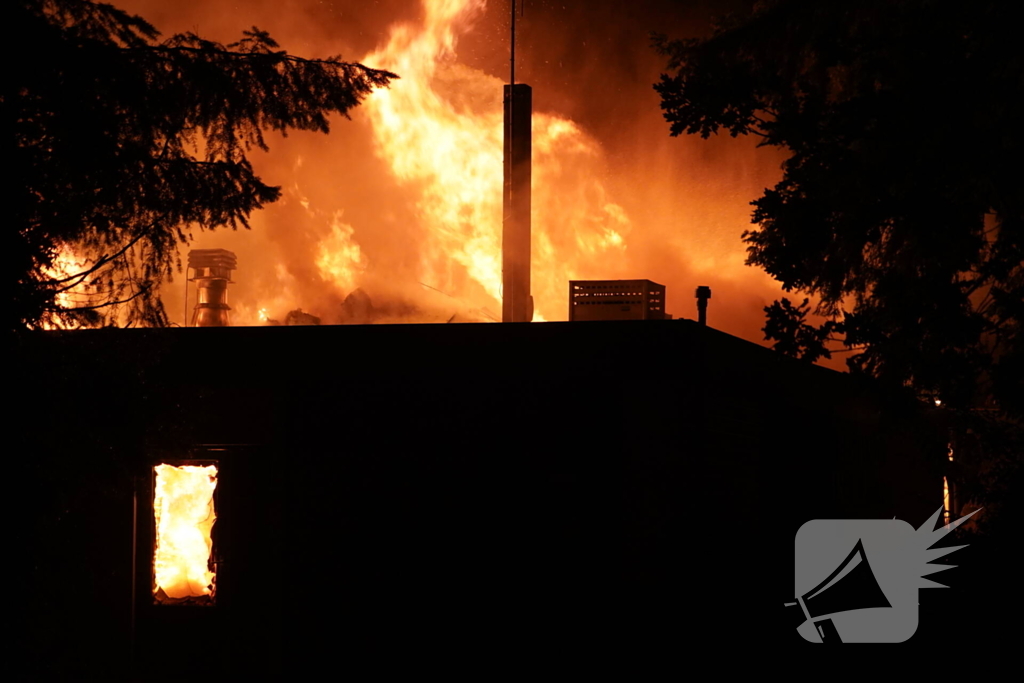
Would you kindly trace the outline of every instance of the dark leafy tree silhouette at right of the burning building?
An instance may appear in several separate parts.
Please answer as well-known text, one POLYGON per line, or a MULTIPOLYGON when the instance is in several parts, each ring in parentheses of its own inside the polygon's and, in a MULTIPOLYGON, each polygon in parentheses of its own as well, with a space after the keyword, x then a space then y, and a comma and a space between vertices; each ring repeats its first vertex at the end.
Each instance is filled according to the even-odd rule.
POLYGON ((706 39, 655 36, 670 73, 654 88, 674 136, 724 130, 788 153, 781 181, 753 202, 748 263, 815 298, 828 322, 815 331, 809 309, 783 300, 766 308, 766 338, 814 360, 842 333, 856 351, 851 370, 940 397, 962 433, 986 435, 989 462, 1005 456, 1019 468, 1024 51, 1015 9, 757 2, 706 39))

